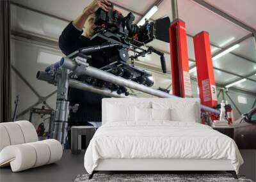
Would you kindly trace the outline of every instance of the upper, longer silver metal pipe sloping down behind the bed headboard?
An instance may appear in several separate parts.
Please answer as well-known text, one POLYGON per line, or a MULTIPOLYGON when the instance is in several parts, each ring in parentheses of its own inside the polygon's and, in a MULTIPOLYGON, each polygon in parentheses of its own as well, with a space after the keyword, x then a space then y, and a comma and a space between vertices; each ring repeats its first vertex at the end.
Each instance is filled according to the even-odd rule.
MULTIPOLYGON (((87 65, 86 67, 84 67, 83 70, 81 70, 81 69, 79 69, 79 66, 69 66, 71 63, 65 63, 65 62, 70 62, 70 61, 72 61, 72 60, 71 59, 63 59, 63 63, 61 63, 60 66, 63 68, 70 69, 74 73, 76 73, 76 72, 78 72, 79 74, 83 73, 84 75, 89 75, 96 79, 104 80, 106 82, 111 82, 111 83, 117 84, 119 86, 129 87, 131 89, 136 89, 138 91, 148 93, 149 95, 158 96, 160 98, 180 98, 179 96, 170 95, 163 91, 159 91, 157 89, 152 89, 150 87, 143 86, 143 85, 133 82, 131 80, 127 80, 122 77, 117 77, 116 75, 113 75, 108 72, 104 72, 97 68, 93 68, 92 66, 87 65)), ((76 63, 76 62, 72 61, 72 63, 76 63)), ((211 107, 207 107, 205 105, 201 105, 201 109, 209 111, 209 112, 214 112, 216 114, 220 114, 220 111, 218 111, 216 109, 212 109, 211 107)))

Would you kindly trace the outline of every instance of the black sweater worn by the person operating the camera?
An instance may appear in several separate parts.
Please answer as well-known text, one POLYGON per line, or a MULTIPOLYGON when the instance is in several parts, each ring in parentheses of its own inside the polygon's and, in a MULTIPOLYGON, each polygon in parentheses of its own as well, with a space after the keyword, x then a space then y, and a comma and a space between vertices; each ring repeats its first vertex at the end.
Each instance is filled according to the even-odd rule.
MULTIPOLYGON (((81 36, 82 33, 83 31, 76 29, 72 22, 65 27, 59 38, 59 47, 66 56, 79 48, 99 45, 99 43, 81 36)), ((113 51, 103 50, 95 52, 91 56, 92 59, 88 60, 90 66, 100 68, 109 64, 109 58, 113 56, 113 51)), ((81 125, 87 121, 101 121, 101 103, 104 97, 106 96, 70 88, 68 93, 70 105, 79 103, 79 110, 76 113, 70 112, 70 125, 81 125)))

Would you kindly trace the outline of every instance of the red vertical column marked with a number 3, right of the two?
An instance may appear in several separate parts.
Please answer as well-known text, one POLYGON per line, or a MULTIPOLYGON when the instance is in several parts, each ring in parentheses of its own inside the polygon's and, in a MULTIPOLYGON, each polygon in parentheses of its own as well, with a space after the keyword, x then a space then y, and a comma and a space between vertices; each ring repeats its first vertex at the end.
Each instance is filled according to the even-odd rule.
POLYGON ((202 105, 216 107, 217 93, 212 66, 209 33, 202 31, 194 36, 197 82, 202 105))

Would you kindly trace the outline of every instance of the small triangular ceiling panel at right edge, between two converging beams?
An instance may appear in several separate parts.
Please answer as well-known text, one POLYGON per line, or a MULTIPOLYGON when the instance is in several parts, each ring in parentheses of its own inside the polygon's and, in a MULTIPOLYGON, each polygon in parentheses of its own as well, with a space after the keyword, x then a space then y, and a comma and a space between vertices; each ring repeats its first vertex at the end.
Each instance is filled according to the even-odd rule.
POLYGON ((239 43, 239 45, 239 48, 233 50, 232 52, 256 61, 256 46, 254 37, 244 40, 243 42, 239 43))

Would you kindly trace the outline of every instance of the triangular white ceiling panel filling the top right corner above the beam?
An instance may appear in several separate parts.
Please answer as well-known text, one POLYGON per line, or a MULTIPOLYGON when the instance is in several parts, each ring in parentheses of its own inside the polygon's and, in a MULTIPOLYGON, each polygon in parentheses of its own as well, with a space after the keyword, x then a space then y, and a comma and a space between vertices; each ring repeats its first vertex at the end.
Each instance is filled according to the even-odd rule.
POLYGON ((219 10, 225 11, 225 13, 231 15, 237 20, 241 20, 248 26, 256 29, 256 16, 255 16, 255 0, 245 1, 216 1, 216 0, 205 0, 207 3, 212 4, 219 10))

